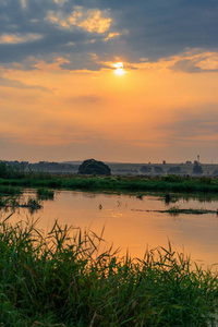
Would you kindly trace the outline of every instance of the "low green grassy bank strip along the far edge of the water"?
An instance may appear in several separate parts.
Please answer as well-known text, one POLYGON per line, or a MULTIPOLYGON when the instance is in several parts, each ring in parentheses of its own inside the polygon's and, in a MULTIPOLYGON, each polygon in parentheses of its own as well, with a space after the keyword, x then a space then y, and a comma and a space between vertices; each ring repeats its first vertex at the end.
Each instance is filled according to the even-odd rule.
POLYGON ((85 191, 218 193, 218 178, 179 177, 84 177, 26 174, 17 179, 0 179, 5 186, 50 187, 85 191))

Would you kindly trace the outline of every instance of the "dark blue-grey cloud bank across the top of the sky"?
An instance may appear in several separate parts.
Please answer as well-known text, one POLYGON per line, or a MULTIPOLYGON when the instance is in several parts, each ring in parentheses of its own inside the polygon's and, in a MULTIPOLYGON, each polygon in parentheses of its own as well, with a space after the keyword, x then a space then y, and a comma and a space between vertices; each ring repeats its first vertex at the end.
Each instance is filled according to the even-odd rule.
MULTIPOLYGON (((64 69, 100 69, 89 52, 110 60, 140 62, 141 58, 156 61, 173 56, 186 48, 218 49, 218 2, 213 0, 20 0, 0 3, 1 35, 37 34, 41 39, 0 45, 0 63, 21 62, 31 56, 45 61, 68 56, 64 69), (102 32, 87 31, 81 26, 64 28, 48 20, 49 13, 68 17, 82 7, 84 11, 100 10, 110 17, 110 27, 102 32), (123 33, 125 31, 125 33, 123 33), (105 40, 109 33, 120 37, 105 40), (89 41, 89 43, 88 43, 89 41), (68 44, 74 46, 69 47, 68 44), (82 58, 82 60, 81 60, 82 58)), ((189 72, 196 72, 189 62, 178 63, 189 72)), ((175 68, 177 69, 177 68, 175 68)))

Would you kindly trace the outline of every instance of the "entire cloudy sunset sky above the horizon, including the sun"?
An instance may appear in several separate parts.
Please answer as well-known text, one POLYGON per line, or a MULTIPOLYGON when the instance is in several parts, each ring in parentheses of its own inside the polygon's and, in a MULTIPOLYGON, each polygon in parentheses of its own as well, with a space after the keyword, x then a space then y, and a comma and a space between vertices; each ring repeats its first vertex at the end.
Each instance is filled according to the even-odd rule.
POLYGON ((0 0, 0 160, 218 162, 218 1, 0 0))

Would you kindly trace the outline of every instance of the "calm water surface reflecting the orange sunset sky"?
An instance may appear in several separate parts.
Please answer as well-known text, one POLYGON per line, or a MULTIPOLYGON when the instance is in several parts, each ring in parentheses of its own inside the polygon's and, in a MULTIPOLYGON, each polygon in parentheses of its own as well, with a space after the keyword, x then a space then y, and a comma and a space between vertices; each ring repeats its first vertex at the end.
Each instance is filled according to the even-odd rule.
MULTIPOLYGON (((26 190, 25 198, 35 196, 34 190, 26 190)), ((120 254, 126 250, 132 257, 143 257, 147 246, 168 246, 191 254, 198 263, 211 265, 218 263, 218 217, 216 214, 171 216, 165 210, 177 205, 180 208, 205 208, 216 210, 218 201, 199 198, 180 198, 175 204, 167 205, 162 196, 88 193, 58 191, 55 201, 44 201, 43 209, 33 214, 39 218, 38 227, 49 230, 55 220, 60 225, 73 225, 93 230, 98 235, 104 227, 107 245, 120 247, 120 254), (146 211, 148 210, 148 211, 146 211)), ((8 215, 9 213, 4 214, 8 215)), ((13 221, 31 216, 26 208, 17 209, 13 221)))

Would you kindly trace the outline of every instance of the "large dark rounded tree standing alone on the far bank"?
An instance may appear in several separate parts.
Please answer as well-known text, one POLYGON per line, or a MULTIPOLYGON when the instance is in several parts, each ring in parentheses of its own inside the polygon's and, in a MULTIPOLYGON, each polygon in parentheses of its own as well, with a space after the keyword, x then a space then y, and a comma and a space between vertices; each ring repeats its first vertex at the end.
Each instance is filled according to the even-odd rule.
POLYGON ((84 160, 78 167, 80 174, 111 174, 108 165, 102 161, 97 161, 95 159, 84 160))

